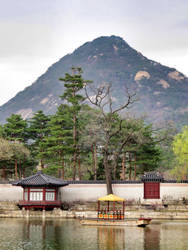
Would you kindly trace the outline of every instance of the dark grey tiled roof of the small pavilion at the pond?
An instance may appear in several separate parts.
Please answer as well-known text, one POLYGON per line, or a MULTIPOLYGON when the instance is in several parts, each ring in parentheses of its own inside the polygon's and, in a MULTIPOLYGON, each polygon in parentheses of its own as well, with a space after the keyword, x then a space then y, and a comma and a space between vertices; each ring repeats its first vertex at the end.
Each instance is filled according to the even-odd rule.
POLYGON ((62 187, 68 185, 68 182, 61 179, 46 175, 42 171, 37 172, 35 175, 15 181, 12 183, 15 186, 56 186, 62 187))

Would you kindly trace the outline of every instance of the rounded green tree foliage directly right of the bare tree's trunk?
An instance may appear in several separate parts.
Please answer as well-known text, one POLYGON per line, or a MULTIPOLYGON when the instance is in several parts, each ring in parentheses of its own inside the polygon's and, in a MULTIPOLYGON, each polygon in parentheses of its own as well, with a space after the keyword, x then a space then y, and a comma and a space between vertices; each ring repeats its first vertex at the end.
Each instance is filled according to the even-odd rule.
MULTIPOLYGON (((118 151, 121 152, 117 159, 118 170, 121 171, 122 153, 130 153, 132 156, 132 159, 126 159, 128 164, 127 175, 129 175, 130 167, 133 168, 132 165, 137 166, 137 175, 158 168, 162 160, 162 154, 156 142, 157 137, 153 136, 152 126, 146 125, 143 119, 131 117, 123 119, 121 126, 120 133, 111 138, 113 154, 118 154, 118 151)), ((117 171, 116 177, 119 176, 120 172, 117 171)))

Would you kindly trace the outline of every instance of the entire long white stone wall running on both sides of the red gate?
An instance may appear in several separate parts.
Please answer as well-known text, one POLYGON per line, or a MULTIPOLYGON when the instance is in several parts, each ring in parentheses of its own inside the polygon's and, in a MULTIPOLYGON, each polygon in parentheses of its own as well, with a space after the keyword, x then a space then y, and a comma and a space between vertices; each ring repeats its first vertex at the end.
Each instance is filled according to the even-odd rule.
MULTIPOLYGON (((143 183, 139 184, 113 184, 114 194, 126 200, 144 202, 143 183)), ((105 184, 70 184, 60 189, 61 200, 74 201, 97 201, 99 197, 106 195, 105 184)), ((22 187, 11 184, 0 184, 0 201, 22 200, 22 187)), ((160 200, 145 200, 157 202, 162 200, 188 199, 188 183, 160 183, 160 200)))

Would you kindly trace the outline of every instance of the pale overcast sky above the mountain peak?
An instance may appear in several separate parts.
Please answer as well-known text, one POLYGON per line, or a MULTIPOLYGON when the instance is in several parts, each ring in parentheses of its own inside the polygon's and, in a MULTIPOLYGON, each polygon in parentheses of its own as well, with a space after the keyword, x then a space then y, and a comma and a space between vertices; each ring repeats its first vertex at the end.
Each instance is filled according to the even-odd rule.
POLYGON ((0 0, 0 105, 104 35, 188 76, 188 0, 0 0))

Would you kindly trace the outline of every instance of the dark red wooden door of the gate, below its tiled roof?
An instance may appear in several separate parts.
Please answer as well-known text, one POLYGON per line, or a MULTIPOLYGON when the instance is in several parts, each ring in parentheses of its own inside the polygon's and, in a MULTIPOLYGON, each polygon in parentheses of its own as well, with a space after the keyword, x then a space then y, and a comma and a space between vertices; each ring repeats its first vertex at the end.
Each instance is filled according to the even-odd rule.
POLYGON ((160 182, 144 183, 144 199, 160 199, 160 182))

